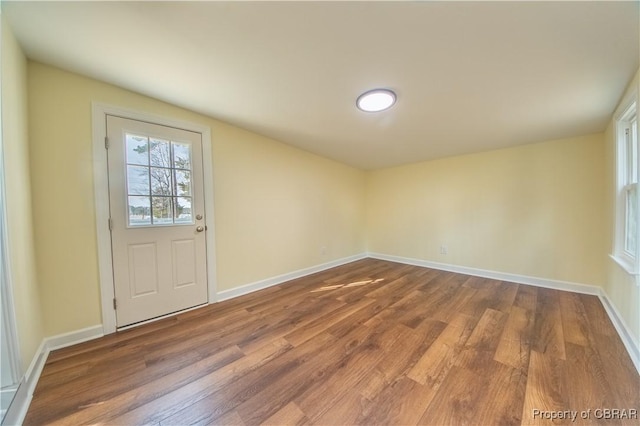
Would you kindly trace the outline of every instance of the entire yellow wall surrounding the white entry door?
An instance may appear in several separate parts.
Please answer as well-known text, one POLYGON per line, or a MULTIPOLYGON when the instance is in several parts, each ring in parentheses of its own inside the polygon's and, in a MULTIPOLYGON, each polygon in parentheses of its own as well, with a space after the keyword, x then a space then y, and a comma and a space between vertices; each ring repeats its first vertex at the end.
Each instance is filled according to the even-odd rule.
POLYGON ((218 291, 364 252, 364 172, 30 62, 31 179, 47 335, 101 323, 92 101, 211 128, 218 291))

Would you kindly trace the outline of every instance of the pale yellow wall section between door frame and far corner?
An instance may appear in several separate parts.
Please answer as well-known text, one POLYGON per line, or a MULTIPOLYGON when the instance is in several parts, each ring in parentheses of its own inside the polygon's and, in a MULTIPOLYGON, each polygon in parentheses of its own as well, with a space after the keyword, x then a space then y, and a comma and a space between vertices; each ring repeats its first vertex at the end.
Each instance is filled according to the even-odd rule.
POLYGON ((363 171, 229 126, 214 139, 219 290, 365 252, 363 171))

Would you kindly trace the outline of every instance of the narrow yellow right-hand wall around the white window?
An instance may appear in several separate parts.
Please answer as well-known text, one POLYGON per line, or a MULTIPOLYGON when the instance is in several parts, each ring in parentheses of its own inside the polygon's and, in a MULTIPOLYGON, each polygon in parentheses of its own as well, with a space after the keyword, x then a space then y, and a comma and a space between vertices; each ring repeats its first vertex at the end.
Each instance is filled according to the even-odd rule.
MULTIPOLYGON (((635 92, 636 99, 640 100, 640 71, 636 73, 634 80, 629 85, 623 97, 620 107, 626 105, 626 100, 635 92)), ((606 261, 606 279, 604 290, 613 302, 614 306, 625 321, 629 331, 633 334, 636 345, 640 345, 640 287, 636 285, 633 276, 629 275, 613 259, 609 257, 613 253, 615 232, 615 198, 616 198, 616 140, 615 118, 611 120, 605 132, 605 229, 606 244, 603 247, 603 257, 606 261)), ((640 346, 639 346, 640 349, 640 346)))

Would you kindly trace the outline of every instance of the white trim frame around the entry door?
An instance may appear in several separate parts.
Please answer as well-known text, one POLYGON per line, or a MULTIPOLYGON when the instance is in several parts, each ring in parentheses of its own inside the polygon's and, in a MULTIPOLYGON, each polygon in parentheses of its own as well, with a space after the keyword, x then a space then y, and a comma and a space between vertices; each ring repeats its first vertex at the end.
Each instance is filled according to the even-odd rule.
POLYGON ((98 270, 100 281, 100 305, 102 308, 102 329, 104 334, 116 331, 116 312, 113 309, 115 291, 113 286, 113 258, 111 253, 111 231, 109 230, 109 176, 105 138, 107 135, 107 115, 137 121, 159 124, 188 130, 202 135, 202 166, 204 174, 205 235, 207 243, 207 293, 208 303, 217 301, 216 283, 216 240, 213 207, 213 164, 211 129, 201 124, 176 120, 135 111, 99 102, 92 102, 93 132, 93 188, 95 202, 96 235, 98 243, 98 270))

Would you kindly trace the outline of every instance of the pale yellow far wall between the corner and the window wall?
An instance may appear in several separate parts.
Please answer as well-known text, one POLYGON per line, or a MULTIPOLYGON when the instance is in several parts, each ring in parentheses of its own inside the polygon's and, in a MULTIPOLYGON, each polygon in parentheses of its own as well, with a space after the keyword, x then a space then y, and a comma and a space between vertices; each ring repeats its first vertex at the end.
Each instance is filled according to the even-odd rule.
POLYGON ((600 286, 603 154, 596 134, 374 171, 368 249, 600 286))

